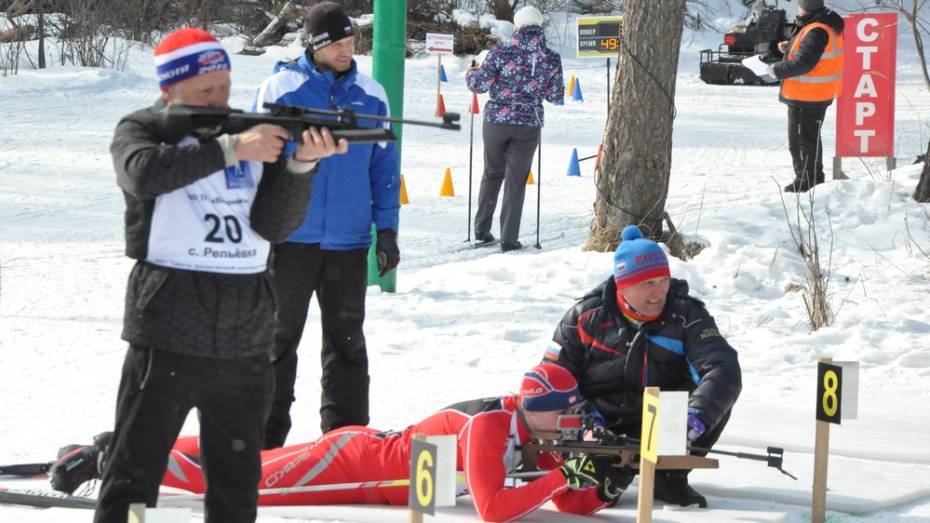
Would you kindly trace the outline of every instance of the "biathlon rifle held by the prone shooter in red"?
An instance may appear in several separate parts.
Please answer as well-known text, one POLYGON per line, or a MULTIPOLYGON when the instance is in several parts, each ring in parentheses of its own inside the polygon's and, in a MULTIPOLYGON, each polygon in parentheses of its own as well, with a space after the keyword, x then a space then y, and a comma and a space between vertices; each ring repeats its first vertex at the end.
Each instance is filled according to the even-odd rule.
MULTIPOLYGON (((615 467, 639 468, 640 441, 623 434, 614 434, 603 425, 596 414, 565 414, 559 416, 558 430, 555 432, 534 432, 530 442, 523 445, 524 470, 536 468, 536 455, 539 452, 558 452, 567 455, 597 454, 617 456, 615 467), (589 439, 583 439, 588 434, 589 439)), ((718 454, 738 459, 764 461, 782 474, 797 480, 794 475, 782 468, 785 450, 781 447, 767 447, 766 454, 750 452, 733 452, 695 446, 688 446, 690 452, 718 454)), ((715 459, 701 456, 659 456, 657 470, 717 468, 715 459)))

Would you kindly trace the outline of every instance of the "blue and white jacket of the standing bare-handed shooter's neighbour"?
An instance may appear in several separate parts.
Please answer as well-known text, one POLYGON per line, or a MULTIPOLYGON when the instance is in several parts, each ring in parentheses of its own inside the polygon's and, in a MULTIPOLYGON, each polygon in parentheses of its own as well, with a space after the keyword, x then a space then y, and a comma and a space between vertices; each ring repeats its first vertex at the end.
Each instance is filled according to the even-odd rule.
MULTIPOLYGON (((338 79, 322 72, 304 53, 296 62, 279 62, 259 88, 254 110, 264 102, 315 109, 347 107, 357 113, 390 116, 384 87, 352 69, 338 79)), ((375 127, 379 122, 360 121, 375 127)), ((385 127, 390 124, 384 123, 385 127)), ((295 147, 289 145, 288 152, 295 147)), ((371 225, 397 230, 400 212, 400 161, 393 142, 353 143, 349 152, 320 161, 313 197, 300 227, 288 237, 345 251, 371 244, 371 225)))

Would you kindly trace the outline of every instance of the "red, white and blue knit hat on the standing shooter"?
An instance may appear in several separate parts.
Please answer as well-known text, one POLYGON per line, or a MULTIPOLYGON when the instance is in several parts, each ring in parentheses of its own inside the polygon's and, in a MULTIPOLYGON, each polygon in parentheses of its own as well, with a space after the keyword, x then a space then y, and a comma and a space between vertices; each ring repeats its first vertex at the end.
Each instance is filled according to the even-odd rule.
POLYGON ((178 29, 155 48, 155 69, 162 91, 188 78, 229 68, 226 50, 203 29, 178 29))

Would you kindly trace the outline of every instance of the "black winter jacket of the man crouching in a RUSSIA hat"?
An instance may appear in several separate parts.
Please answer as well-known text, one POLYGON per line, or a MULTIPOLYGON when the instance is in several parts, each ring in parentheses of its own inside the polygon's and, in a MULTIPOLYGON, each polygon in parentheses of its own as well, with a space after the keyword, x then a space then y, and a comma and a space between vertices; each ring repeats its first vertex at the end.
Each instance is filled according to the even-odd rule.
POLYGON ((554 348, 556 363, 572 372, 608 428, 621 433, 638 434, 647 386, 689 391, 688 407, 700 411, 708 430, 742 389, 736 351, 683 280, 672 280, 662 315, 637 328, 620 312, 611 277, 569 309, 553 341, 561 348, 554 348))

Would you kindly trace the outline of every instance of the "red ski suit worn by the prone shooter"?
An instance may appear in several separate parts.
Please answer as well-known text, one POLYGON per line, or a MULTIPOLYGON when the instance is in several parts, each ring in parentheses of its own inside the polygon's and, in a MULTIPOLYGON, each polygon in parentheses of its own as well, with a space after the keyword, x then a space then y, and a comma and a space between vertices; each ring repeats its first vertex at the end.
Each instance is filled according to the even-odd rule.
MULTIPOLYGON (((608 506, 595 487, 570 490, 551 453, 538 458, 549 472, 527 484, 507 488, 509 472, 522 462, 520 446, 529 432, 516 412, 517 398, 489 398, 458 403, 403 432, 350 426, 324 434, 312 443, 262 452, 260 489, 385 481, 410 475, 410 439, 414 434, 455 435, 457 470, 464 472, 468 493, 485 521, 517 519, 550 499, 562 512, 592 514, 608 506)), ((163 484, 195 493, 206 490, 198 463, 197 438, 177 441, 163 484)), ((262 495, 259 505, 327 505, 346 503, 407 504, 408 487, 357 488, 325 492, 262 495)))

